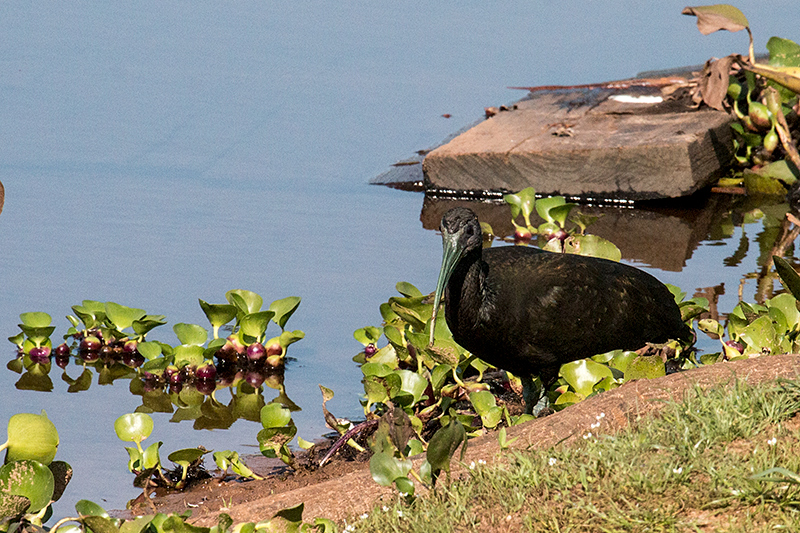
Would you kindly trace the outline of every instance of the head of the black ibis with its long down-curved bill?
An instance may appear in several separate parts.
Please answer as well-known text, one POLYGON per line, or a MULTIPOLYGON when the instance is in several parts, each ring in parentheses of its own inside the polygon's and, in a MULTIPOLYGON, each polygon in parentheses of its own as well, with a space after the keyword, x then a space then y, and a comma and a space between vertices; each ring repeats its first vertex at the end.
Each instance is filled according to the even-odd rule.
POLYGON ((439 229, 442 232, 442 268, 439 270, 439 281, 436 283, 436 294, 433 298, 430 344, 433 344, 436 315, 450 276, 467 252, 480 250, 483 245, 478 217, 465 207, 456 207, 445 213, 439 229))

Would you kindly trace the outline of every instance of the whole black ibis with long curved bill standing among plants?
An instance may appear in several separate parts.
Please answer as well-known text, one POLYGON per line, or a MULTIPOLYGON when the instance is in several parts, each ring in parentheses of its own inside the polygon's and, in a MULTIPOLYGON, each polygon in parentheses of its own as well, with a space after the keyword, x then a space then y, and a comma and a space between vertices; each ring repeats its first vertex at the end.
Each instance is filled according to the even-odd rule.
POLYGON ((453 339, 519 376, 529 413, 564 363, 694 338, 669 289, 639 269, 528 246, 484 250, 478 217, 462 207, 442 217, 441 231, 431 326, 444 295, 453 339))

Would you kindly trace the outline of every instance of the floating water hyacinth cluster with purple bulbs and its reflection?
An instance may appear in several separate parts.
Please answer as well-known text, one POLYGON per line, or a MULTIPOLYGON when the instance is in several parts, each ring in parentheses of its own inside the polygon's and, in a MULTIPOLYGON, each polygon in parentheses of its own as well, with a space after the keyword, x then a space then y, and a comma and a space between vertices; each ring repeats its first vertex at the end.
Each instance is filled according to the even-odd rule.
POLYGON ((265 310, 261 296, 252 291, 228 291, 226 299, 224 304, 200 300, 211 335, 198 324, 177 323, 174 345, 147 338, 166 324, 166 317, 115 302, 84 300, 73 306, 65 342, 52 349, 50 315, 23 313, 21 331, 9 339, 17 346, 17 357, 8 368, 21 374, 17 388, 29 390, 53 389, 53 362, 62 369, 69 392, 88 390, 92 371, 99 384, 130 380, 144 410, 174 410, 174 421, 193 420, 197 429, 227 428, 237 418, 258 421, 264 385, 278 391, 282 404, 297 409, 286 395, 283 372, 288 347, 305 336, 286 329, 300 298, 275 300, 265 310), (278 331, 270 338, 271 324, 278 331), (220 338, 221 328, 230 330, 226 338, 220 338), (71 367, 79 370, 77 376, 71 367), (220 402, 218 389, 229 389, 231 400, 220 402))

